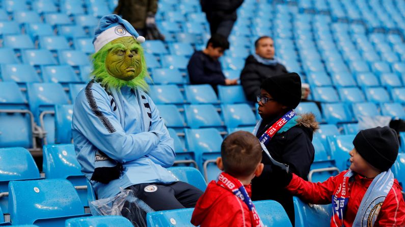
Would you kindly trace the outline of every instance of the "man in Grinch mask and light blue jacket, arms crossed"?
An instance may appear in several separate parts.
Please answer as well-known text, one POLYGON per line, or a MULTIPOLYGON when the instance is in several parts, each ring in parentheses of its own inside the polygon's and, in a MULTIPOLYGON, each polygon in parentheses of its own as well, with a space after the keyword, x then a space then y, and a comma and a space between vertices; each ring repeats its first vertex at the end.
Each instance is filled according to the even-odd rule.
POLYGON ((166 169, 176 155, 164 120, 145 93, 144 41, 121 17, 100 19, 93 40, 94 78, 73 108, 77 160, 98 199, 125 188, 155 211, 194 207, 202 191, 166 169))

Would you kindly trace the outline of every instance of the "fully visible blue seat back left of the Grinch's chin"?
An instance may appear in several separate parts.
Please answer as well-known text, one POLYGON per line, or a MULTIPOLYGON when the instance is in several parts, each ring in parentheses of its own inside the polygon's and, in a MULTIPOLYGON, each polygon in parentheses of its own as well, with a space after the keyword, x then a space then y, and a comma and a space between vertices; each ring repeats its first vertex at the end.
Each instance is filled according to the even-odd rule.
POLYGON ((43 66, 41 71, 44 82, 61 84, 81 82, 71 66, 43 66))

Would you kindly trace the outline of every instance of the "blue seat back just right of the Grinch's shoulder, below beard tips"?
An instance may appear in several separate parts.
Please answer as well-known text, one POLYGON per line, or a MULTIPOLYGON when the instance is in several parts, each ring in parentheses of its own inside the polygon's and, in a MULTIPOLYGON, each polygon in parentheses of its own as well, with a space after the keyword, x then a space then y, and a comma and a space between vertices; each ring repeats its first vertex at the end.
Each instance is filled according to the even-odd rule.
POLYGON ((176 85, 151 85, 149 96, 155 104, 184 104, 184 98, 176 85), (170 95, 168 95, 170 94, 170 95))

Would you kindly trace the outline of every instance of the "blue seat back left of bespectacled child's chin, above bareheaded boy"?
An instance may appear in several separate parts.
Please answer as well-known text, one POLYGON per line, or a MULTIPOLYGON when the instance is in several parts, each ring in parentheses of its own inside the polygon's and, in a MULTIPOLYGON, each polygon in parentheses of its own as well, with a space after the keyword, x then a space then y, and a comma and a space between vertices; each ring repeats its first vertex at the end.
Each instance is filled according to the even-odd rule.
POLYGON ((226 104, 221 106, 222 116, 228 128, 254 126, 256 117, 248 104, 226 104))

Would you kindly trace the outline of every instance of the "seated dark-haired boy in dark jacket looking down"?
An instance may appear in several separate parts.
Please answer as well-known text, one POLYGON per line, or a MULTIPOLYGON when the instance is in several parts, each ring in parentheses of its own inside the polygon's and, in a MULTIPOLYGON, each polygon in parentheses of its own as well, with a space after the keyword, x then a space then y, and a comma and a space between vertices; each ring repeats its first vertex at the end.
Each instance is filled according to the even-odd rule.
POLYGON ((187 71, 191 84, 210 84, 217 92, 217 85, 235 85, 237 80, 226 79, 218 60, 226 49, 228 40, 221 35, 213 35, 202 51, 196 51, 188 61, 187 71))

